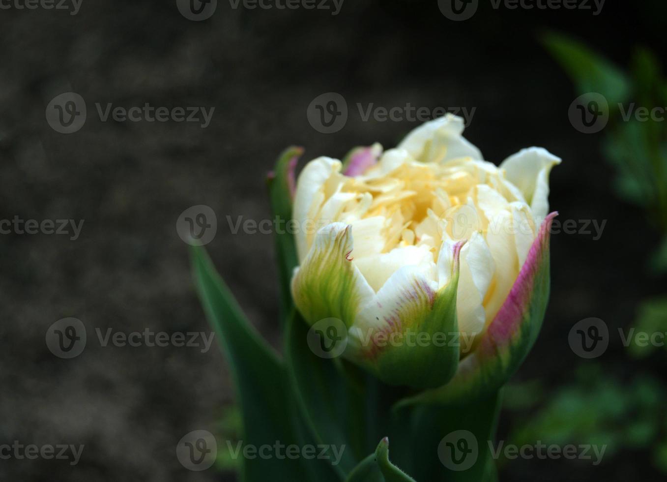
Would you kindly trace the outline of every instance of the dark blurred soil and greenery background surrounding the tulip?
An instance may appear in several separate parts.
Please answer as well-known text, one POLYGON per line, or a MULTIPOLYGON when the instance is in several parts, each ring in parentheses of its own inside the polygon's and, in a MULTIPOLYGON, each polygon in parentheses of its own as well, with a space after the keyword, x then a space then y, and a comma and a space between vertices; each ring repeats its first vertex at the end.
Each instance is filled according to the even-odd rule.
POLYGON ((273 240, 232 234, 226 216, 270 217, 265 174, 290 144, 305 148, 303 160, 340 158, 376 141, 393 146, 418 123, 365 122, 356 103, 408 102, 474 108, 466 136, 492 162, 532 145, 554 152, 564 162, 552 172, 552 208, 562 220, 607 221, 598 240, 552 237, 550 306, 508 389, 498 438, 613 449, 598 466, 504 461, 501 480, 664 479, 667 424, 655 408, 664 405, 664 350, 628 354, 612 336, 603 356, 583 360, 568 344, 578 320, 602 318, 615 332, 636 322, 644 300, 666 292, 664 276, 647 268, 660 229, 614 190, 606 133, 570 124, 568 107, 581 92, 540 42, 547 30, 566 33, 623 69, 639 45, 667 51, 664 18, 658 0, 609 1, 599 15, 496 10, 483 0, 458 22, 422 0, 346 0, 335 16, 219 1, 201 22, 185 19, 175 1, 83 0, 77 15, 1 10, 0 218, 85 222, 77 240, 0 236, 0 443, 85 449, 75 466, 2 460, 0 479, 234 480, 227 471, 187 471, 175 457, 185 433, 224 430, 233 393, 217 346, 102 347, 94 330, 209 331, 188 246, 175 230, 183 210, 205 204, 218 220, 211 257, 279 350, 273 240), (69 135, 45 120, 47 103, 65 91, 88 107, 85 126, 69 135), (306 109, 331 91, 344 96, 350 116, 336 134, 321 134, 306 109), (101 122, 96 102, 215 112, 205 129, 101 122), (72 360, 45 344, 47 328, 65 316, 89 334, 72 360))

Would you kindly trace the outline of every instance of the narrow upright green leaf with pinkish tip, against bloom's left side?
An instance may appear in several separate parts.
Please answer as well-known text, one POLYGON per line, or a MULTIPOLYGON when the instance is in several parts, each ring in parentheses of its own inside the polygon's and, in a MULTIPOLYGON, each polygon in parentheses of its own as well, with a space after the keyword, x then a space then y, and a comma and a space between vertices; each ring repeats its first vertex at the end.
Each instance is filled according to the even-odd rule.
POLYGON ((286 223, 292 218, 292 190, 295 188, 294 168, 301 154, 303 154, 303 148, 287 148, 278 158, 273 174, 267 181, 271 210, 278 223, 274 230, 275 255, 278 261, 280 312, 283 322, 293 306, 289 282, 294 268, 299 264, 294 236, 291 230, 286 228, 286 223))

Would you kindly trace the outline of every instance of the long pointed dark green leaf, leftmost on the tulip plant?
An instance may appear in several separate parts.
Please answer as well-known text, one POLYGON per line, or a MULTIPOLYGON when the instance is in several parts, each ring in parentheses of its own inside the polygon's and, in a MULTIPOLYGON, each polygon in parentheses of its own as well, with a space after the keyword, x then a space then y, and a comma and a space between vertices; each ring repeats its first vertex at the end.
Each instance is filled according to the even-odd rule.
MULTIPOLYGON (((191 249, 194 278, 204 310, 227 357, 237 402, 241 407, 243 443, 260 447, 275 441, 284 445, 298 439, 289 413, 293 401, 282 363, 251 327, 217 274, 204 248, 191 249)), ((244 481, 301 480, 299 460, 252 459, 241 461, 244 481)))

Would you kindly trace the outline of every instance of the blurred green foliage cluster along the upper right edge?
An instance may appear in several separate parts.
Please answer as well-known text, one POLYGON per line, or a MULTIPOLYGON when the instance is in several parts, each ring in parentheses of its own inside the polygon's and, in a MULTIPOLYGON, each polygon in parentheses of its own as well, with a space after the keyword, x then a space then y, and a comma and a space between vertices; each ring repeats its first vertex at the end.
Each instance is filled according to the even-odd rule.
MULTIPOLYGON (((586 45, 549 33, 544 45, 570 75, 581 95, 598 92, 609 103, 610 121, 602 152, 616 170, 614 189, 621 198, 646 210, 665 236, 652 256, 654 272, 667 272, 667 120, 650 111, 667 105, 667 79, 648 49, 636 49, 628 72, 586 45), (642 115, 637 109, 645 109, 642 115)), ((660 114, 664 116, 664 111, 660 114)))

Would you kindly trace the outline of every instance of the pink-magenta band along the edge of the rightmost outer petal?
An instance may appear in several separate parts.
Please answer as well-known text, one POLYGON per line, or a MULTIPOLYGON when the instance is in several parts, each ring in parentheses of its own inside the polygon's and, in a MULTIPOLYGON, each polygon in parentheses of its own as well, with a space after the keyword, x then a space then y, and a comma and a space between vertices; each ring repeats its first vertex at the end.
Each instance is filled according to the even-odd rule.
POLYGON ((540 232, 530 246, 526 262, 524 262, 519 276, 512 285, 510 294, 508 294, 498 314, 489 325, 486 336, 482 339, 481 352, 495 352, 499 346, 508 344, 512 336, 518 331, 523 320, 524 309, 530 301, 535 275, 540 269, 545 252, 549 250, 551 223, 556 216, 558 216, 558 212, 552 212, 544 218, 542 226, 540 226, 540 232))

